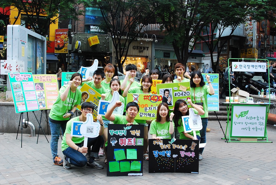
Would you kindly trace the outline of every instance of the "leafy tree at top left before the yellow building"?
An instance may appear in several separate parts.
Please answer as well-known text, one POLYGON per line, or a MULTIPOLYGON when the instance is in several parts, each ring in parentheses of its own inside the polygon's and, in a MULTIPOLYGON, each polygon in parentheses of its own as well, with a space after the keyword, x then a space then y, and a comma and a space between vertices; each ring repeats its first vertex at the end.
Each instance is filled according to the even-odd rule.
MULTIPOLYGON (((30 25, 31 29, 43 36, 48 35, 51 24, 57 23, 60 15, 63 19, 77 19, 77 15, 82 15, 76 7, 80 4, 78 0, 1 0, 0 7, 15 7, 20 14, 24 14, 25 24, 30 25), (44 14, 41 16, 39 14, 44 14)), ((15 24, 14 22, 14 24, 15 24)))

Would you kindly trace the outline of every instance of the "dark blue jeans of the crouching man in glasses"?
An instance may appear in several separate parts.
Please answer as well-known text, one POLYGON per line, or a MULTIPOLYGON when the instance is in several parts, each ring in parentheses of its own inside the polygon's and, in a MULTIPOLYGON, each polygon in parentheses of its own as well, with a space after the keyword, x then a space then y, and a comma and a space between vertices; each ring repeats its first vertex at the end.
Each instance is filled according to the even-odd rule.
MULTIPOLYGON (((83 143, 76 144, 77 146, 83 146, 83 143)), ((97 157, 100 150, 100 136, 96 138, 88 138, 87 139, 87 148, 91 148, 91 157, 97 157)), ((70 146, 63 150, 62 153, 68 158, 70 164, 76 167, 84 167, 87 163, 86 157, 81 153, 76 151, 75 149, 71 148, 70 146)))

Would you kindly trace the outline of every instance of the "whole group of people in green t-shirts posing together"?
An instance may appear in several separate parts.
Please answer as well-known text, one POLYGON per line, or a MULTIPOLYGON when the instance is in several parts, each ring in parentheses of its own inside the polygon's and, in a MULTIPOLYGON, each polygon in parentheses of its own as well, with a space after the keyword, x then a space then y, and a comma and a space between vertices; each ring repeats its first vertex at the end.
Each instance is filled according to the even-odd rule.
MULTIPOLYGON (((207 94, 213 95, 214 89, 210 82, 210 77, 206 75, 208 85, 203 81, 203 76, 200 72, 195 71, 191 76, 186 72, 184 77, 185 67, 181 63, 175 65, 175 72, 177 78, 173 80, 170 74, 163 76, 162 83, 173 82, 190 82, 192 99, 187 100, 192 106, 195 114, 201 115, 203 128, 196 132, 197 138, 194 138, 193 133, 184 133, 184 127, 182 123, 182 116, 188 116, 189 110, 186 101, 177 100, 174 104, 174 109, 169 110, 167 103, 160 103, 157 109, 157 116, 155 120, 136 120, 135 117, 139 112, 139 106, 136 102, 126 102, 127 93, 142 93, 151 94, 152 79, 160 78, 158 70, 153 69, 147 71, 147 74, 142 77, 141 82, 134 81, 136 76, 137 67, 133 64, 126 66, 126 76, 124 80, 119 81, 114 76, 115 68, 112 64, 108 64, 104 68, 104 73, 101 69, 94 71, 93 78, 88 77, 82 79, 81 74, 74 73, 67 85, 63 85, 60 88, 57 101, 54 103, 50 114, 49 124, 51 128, 51 152, 55 165, 63 165, 65 169, 70 169, 71 164, 77 167, 87 166, 88 168, 103 169, 103 166, 96 162, 99 160, 99 154, 107 152, 107 131, 108 124, 142 124, 144 125, 144 159, 149 160, 147 154, 148 148, 148 125, 150 124, 150 134, 152 138, 156 140, 170 139, 171 136, 176 139, 194 139, 200 140, 200 143, 206 143, 206 127, 208 124, 208 109, 207 109, 207 94), (148 75, 150 74, 150 75, 148 75), (105 79, 104 79, 105 76, 105 79), (105 116, 97 116, 97 122, 100 123, 100 134, 96 138, 89 138, 87 141, 87 147, 83 146, 83 137, 71 136, 71 122, 72 121, 85 121, 86 114, 92 113, 94 106, 90 102, 85 102, 86 98, 82 98, 82 93, 78 86, 86 83, 92 89, 101 94, 102 100, 111 101, 114 91, 121 89, 122 96, 119 100, 108 109, 105 116), (200 105, 195 103, 201 103, 200 105), (81 104, 80 115, 70 118, 74 115, 76 106, 81 104), (124 114, 114 115, 113 110, 116 107, 124 104, 124 114), (57 145, 60 134, 60 128, 62 130, 62 152, 64 158, 62 159, 57 155, 57 145), (179 132, 173 135, 174 132, 179 132), (99 152, 100 151, 100 152, 99 152), (103 151, 103 152, 101 152, 103 151), (86 156, 83 155, 86 153, 86 156)), ((200 148, 199 160, 202 160, 202 152, 204 148, 200 148)), ((102 155, 103 156, 103 155, 102 155)), ((107 156, 107 155, 106 155, 107 156)), ((107 159, 105 158, 107 164, 107 159)))

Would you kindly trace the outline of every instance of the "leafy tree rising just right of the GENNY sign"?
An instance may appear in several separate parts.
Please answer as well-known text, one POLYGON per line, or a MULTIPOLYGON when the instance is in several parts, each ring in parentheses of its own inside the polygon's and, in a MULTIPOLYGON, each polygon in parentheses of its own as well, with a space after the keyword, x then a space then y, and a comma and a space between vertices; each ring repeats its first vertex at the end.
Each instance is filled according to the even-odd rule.
POLYGON ((164 42, 171 43, 179 63, 186 66, 196 44, 196 32, 209 22, 218 0, 153 0, 157 21, 163 25, 164 42))

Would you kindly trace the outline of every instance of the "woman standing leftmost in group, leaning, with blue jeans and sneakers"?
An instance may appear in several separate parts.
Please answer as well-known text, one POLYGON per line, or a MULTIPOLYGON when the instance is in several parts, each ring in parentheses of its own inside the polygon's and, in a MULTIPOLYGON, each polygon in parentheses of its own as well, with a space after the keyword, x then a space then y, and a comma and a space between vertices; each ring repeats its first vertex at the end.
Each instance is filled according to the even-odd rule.
POLYGON ((68 84, 60 88, 57 101, 53 104, 49 114, 51 152, 55 165, 63 164, 63 160, 57 155, 60 128, 63 136, 68 120, 74 115, 77 105, 81 103, 81 91, 77 89, 81 83, 81 74, 74 73, 68 84))

